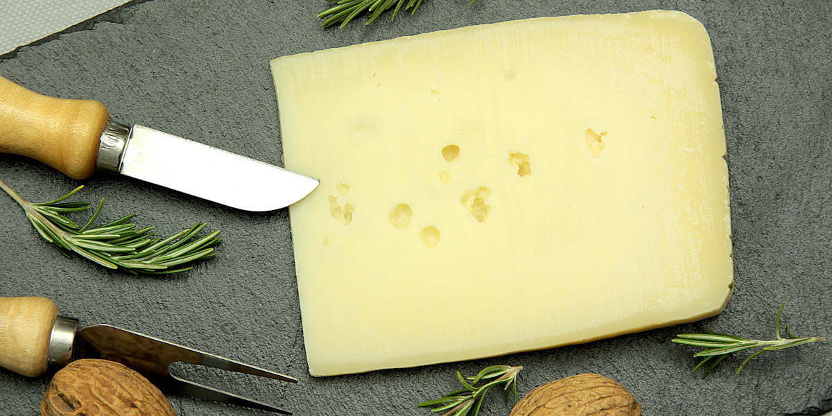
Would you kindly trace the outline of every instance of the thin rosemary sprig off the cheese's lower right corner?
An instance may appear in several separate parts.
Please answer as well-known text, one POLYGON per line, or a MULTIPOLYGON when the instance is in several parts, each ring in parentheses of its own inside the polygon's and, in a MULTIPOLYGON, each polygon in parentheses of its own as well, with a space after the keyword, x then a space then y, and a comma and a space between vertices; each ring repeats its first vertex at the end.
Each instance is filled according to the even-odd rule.
POLYGON ((711 369, 714 369, 714 367, 716 367, 716 364, 720 364, 723 359, 726 359, 728 354, 732 354, 737 351, 742 351, 745 349, 762 348, 754 354, 751 354, 747 359, 745 359, 745 361, 742 362, 742 364, 740 364, 740 368, 736 369, 736 374, 740 374, 740 370, 742 370, 742 368, 745 367, 745 364, 747 364, 751 359, 759 356, 760 354, 765 353, 765 351, 776 351, 779 349, 786 349, 790 347, 796 347, 798 345, 810 344, 813 342, 826 340, 822 337, 795 336, 795 334, 791 333, 791 328, 789 325, 786 325, 785 327, 785 331, 788 335, 788 338, 783 338, 782 336, 780 336, 780 312, 783 311, 783 305, 785 305, 785 303, 780 304, 780 309, 777 310, 777 315, 775 316, 776 339, 772 339, 770 341, 747 339, 729 334, 718 334, 707 329, 702 329, 703 334, 678 334, 676 335, 677 338, 671 339, 671 341, 675 342, 676 344, 692 345, 694 347, 703 348, 702 351, 693 354, 694 357, 705 358, 702 359, 699 362, 699 364, 696 364, 696 367, 694 367, 692 371, 696 371, 703 364, 706 364, 707 362, 711 361, 711 359, 713 359, 713 361, 711 361, 711 364, 709 364, 706 368, 705 374, 702 374, 702 379, 705 379, 708 376, 708 373, 711 373, 711 369))

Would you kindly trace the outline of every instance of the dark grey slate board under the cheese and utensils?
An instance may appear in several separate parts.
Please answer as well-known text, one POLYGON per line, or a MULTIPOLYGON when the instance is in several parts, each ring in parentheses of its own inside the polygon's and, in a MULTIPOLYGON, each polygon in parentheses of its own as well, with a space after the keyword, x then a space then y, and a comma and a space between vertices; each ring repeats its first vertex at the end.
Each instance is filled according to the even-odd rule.
MULTIPOLYGON (((735 292, 710 329, 767 339, 783 319, 800 334, 832 335, 832 2, 480 0, 425 2, 414 16, 324 29, 323 1, 151 0, 0 57, 0 76, 57 97, 92 98, 119 121, 195 138, 280 164, 270 59, 471 24, 576 13, 681 10, 711 34, 728 141, 735 292), (771 4, 767 4, 771 3, 771 4)), ((2 22, 2 16, 0 16, 2 22)), ((250 214, 127 178, 73 181, 0 155, 0 178, 32 201, 85 186, 103 218, 136 213, 170 235, 198 220, 222 230, 213 260, 173 277, 135 277, 67 260, 0 195, 0 295, 42 295, 82 323, 111 323, 242 359, 300 384, 191 368, 181 374, 296 414, 427 415, 414 404, 454 389, 453 372, 520 364, 520 390, 572 374, 617 379, 646 415, 780 415, 830 409, 832 344, 763 355, 733 374, 690 373, 692 349, 671 344, 686 324, 508 357, 313 379, 307 374, 286 210, 250 214)), ((0 370, 0 414, 37 414, 48 377, 0 370)), ((181 415, 259 412, 171 397, 181 415)), ((489 399, 483 415, 508 414, 489 399)), ((820 414, 816 412, 814 414, 820 414)))

